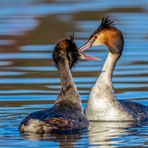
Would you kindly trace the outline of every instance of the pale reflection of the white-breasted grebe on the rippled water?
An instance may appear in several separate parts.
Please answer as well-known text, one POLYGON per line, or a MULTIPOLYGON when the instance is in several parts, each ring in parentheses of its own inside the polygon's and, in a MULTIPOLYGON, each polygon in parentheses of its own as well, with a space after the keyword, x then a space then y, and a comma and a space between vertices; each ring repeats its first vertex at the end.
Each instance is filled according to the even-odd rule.
POLYGON ((93 146, 99 146, 99 148, 110 148, 111 146, 117 146, 125 142, 125 139, 123 140, 122 136, 131 134, 136 135, 138 133, 135 133, 135 128, 146 124, 146 122, 133 123, 91 121, 88 132, 89 143, 93 146), (118 140, 116 140, 116 138, 118 138, 118 140))

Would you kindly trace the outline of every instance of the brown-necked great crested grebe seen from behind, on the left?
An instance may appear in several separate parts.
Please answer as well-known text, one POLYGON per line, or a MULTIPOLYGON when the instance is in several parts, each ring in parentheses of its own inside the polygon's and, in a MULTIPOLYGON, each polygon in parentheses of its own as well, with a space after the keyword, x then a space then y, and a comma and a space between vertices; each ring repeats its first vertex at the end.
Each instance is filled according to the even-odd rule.
POLYGON ((73 82, 70 69, 78 60, 97 60, 80 52, 73 41, 63 39, 53 51, 53 61, 58 68, 61 90, 53 107, 27 115, 20 123, 20 132, 75 132, 88 128, 81 100, 73 82))

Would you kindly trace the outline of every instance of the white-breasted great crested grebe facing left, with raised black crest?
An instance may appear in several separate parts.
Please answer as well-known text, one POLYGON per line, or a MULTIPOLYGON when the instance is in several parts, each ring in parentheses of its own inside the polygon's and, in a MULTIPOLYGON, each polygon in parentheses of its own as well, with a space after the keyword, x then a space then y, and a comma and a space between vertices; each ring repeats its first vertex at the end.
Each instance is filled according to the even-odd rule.
POLYGON ((102 72, 93 86, 86 115, 89 120, 99 121, 145 121, 148 120, 148 107, 142 104, 117 100, 112 84, 114 67, 122 55, 124 38, 109 18, 103 18, 101 25, 79 50, 85 51, 92 46, 105 45, 109 49, 102 72))

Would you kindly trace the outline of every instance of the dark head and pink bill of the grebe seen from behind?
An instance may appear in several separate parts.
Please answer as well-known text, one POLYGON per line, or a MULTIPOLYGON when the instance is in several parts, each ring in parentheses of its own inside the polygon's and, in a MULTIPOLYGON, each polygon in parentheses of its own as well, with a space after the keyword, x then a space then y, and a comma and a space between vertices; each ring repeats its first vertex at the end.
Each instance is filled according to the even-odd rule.
POLYGON ((57 67, 59 67, 59 63, 65 64, 65 61, 72 68, 78 60, 99 60, 99 58, 86 55, 78 50, 74 36, 70 36, 70 39, 60 40, 55 46, 52 56, 57 67))

